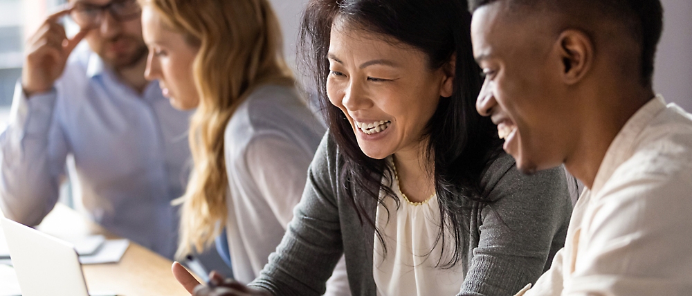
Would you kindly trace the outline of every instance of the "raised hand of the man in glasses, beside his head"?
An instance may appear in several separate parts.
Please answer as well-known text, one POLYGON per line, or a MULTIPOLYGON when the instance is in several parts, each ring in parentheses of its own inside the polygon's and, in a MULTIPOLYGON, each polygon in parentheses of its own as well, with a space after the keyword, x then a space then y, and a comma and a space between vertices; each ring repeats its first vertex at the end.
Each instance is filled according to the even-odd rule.
POLYGON ((24 69, 21 71, 21 87, 27 98, 35 93, 44 93, 53 88, 67 63, 67 58, 89 31, 81 30, 68 39, 65 28, 58 23, 60 17, 72 8, 60 10, 48 16, 26 44, 24 69))

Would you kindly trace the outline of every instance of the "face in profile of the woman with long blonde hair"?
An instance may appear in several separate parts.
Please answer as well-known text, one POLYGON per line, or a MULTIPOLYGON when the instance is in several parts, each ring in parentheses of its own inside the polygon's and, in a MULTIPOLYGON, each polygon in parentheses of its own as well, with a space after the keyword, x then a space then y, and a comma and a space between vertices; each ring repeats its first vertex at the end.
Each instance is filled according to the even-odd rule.
POLYGON ((190 46, 181 33, 165 24, 156 10, 142 10, 144 39, 149 46, 147 80, 158 80, 161 91, 176 109, 193 109, 199 104, 192 64, 198 48, 190 46))

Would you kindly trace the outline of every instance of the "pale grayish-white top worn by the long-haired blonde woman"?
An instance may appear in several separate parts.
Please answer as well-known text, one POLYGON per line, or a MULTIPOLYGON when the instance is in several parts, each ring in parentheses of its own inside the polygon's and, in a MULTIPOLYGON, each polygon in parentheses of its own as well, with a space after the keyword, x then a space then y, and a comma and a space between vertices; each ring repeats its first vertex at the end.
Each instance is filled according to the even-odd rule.
MULTIPOLYGON (((235 279, 253 281, 284 237, 325 127, 286 86, 253 91, 224 133, 226 234, 235 279)), ((343 258, 325 295, 350 295, 343 258)))

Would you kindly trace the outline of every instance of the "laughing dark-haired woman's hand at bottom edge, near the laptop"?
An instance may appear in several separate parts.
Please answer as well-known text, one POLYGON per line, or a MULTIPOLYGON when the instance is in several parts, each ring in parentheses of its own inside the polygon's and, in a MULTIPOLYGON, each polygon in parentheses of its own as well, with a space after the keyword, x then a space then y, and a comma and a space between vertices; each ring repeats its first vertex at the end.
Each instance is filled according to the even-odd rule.
POLYGON ((215 287, 208 287, 199 284, 199 281, 178 262, 173 262, 172 270, 175 279, 194 296, 273 296, 264 290, 248 288, 233 279, 224 279, 215 271, 209 274, 209 281, 215 287))

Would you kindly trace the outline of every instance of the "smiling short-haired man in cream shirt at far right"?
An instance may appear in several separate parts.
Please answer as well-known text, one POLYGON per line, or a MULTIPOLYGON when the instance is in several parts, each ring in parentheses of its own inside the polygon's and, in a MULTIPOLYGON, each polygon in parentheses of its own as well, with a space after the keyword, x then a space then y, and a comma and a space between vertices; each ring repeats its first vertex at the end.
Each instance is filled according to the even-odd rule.
POLYGON ((692 293, 692 115, 654 95, 659 0, 480 0, 477 110, 527 174, 587 190, 524 295, 692 293))

